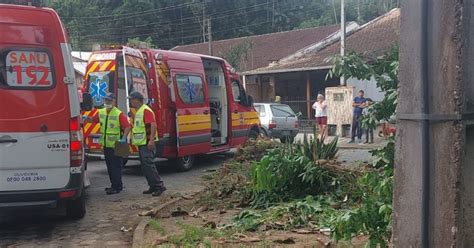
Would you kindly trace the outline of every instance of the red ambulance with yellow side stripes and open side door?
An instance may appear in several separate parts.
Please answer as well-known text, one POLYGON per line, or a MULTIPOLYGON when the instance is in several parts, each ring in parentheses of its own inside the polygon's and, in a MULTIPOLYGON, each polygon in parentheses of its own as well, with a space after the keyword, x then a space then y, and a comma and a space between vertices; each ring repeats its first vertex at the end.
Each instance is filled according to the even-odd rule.
MULTIPOLYGON (((225 152, 259 135, 260 121, 252 97, 222 58, 154 49, 142 49, 140 56, 132 51, 137 50, 123 47, 95 52, 86 72, 84 99, 98 100, 94 103, 97 108, 103 104, 101 97, 113 92, 119 108, 133 118, 126 96, 141 92, 157 118, 158 157, 168 158, 178 170, 186 171, 196 155, 225 152), (95 65, 95 61, 100 63, 95 65), (100 82, 105 83, 97 83, 95 75, 103 75, 100 82), (91 86, 94 83, 97 85, 91 86), (97 89, 105 90, 98 94, 97 89)), ((95 109, 85 112, 89 116, 96 113, 95 109)), ((99 124, 95 125, 84 128, 89 156, 102 154, 99 124)), ((131 151, 129 158, 137 158, 136 148, 131 146, 131 151)))

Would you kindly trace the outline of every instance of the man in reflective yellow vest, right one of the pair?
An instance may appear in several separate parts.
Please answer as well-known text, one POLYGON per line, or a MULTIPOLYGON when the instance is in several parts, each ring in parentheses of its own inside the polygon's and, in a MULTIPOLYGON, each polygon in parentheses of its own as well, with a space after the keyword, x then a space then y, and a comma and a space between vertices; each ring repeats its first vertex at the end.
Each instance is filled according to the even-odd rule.
POLYGON ((149 189, 143 194, 159 196, 166 188, 153 161, 156 151, 155 142, 158 141, 155 113, 144 104, 144 97, 141 93, 132 92, 128 98, 132 108, 137 109, 132 127, 132 144, 138 146, 142 171, 149 186, 149 189))

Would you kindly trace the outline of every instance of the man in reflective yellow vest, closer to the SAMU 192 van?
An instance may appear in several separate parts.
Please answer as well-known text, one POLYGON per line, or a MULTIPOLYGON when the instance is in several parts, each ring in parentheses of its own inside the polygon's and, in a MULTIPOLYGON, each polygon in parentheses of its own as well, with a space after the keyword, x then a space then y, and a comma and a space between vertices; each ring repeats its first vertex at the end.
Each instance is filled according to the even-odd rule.
MULTIPOLYGON (((111 183, 105 188, 108 195, 120 193, 123 189, 122 167, 123 158, 115 156, 115 142, 126 143, 130 132, 130 123, 127 116, 116 107, 114 94, 108 93, 104 97, 104 108, 99 109, 93 122, 100 123, 100 144, 104 149, 105 163, 111 183), (123 135, 121 135, 123 133, 123 135)), ((87 121, 87 120, 86 120, 87 121)))

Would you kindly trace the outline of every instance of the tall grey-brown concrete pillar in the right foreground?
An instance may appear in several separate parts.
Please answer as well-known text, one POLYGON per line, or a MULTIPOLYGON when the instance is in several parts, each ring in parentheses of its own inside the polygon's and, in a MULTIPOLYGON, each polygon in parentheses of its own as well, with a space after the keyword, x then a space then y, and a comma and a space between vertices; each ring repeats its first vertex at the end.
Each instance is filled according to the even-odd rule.
POLYGON ((465 71, 473 58, 466 52, 472 42, 467 42, 466 33, 469 31, 468 10, 472 3, 427 0, 427 42, 426 46, 422 46, 422 2, 403 0, 401 6, 393 245, 421 247, 421 230, 426 224, 428 243, 425 247, 473 247, 474 213, 471 204, 474 204, 474 164, 473 160, 462 157, 469 149, 474 152, 474 134, 466 137, 467 122, 456 120, 465 111, 463 94, 469 92, 464 89, 472 78, 465 71), (428 58, 421 61, 424 47, 427 48, 428 58), (422 62, 427 63, 428 116, 421 114, 422 62), (423 119, 431 119, 427 192, 429 218, 424 221, 421 217, 423 119), (467 145, 471 146, 465 147, 466 140, 467 145), (469 176, 469 180, 463 182, 461 175, 473 177, 469 176), (466 189, 466 185, 470 188, 466 189), (468 225, 464 224, 466 213, 471 217, 468 225))

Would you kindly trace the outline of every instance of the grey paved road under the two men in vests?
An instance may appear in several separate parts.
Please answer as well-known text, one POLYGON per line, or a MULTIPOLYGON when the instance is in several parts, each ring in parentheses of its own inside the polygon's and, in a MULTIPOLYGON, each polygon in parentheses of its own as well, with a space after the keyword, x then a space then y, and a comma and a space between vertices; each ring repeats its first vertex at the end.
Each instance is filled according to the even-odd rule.
MULTIPOLYGON (((160 163, 168 191, 185 193, 198 190, 200 179, 207 170, 215 169, 225 161, 224 156, 212 156, 197 161, 189 172, 177 173, 160 163)), ((107 196, 104 188, 109 179, 103 161, 89 162, 91 187, 87 190, 87 215, 79 221, 64 217, 64 211, 21 211, 0 213, 0 247, 129 247, 132 232, 120 229, 134 228, 140 221, 138 212, 156 206, 163 197, 143 195, 146 181, 137 161, 130 161, 124 170, 122 193, 107 196)))

